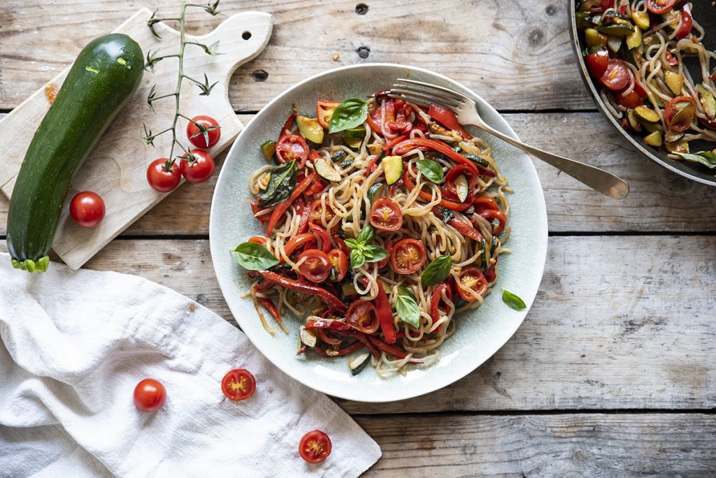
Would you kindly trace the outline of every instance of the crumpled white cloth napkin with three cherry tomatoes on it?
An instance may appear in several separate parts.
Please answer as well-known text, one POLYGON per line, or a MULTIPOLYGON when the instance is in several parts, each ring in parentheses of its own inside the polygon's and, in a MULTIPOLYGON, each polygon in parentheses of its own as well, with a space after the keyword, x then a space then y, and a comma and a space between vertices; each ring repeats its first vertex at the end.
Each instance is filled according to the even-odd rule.
POLYGON ((241 331, 143 278, 58 263, 31 275, 0 254, 0 339, 2 477, 350 477, 380 457, 339 406, 241 331), (238 368, 256 394, 233 402, 221 379, 238 368), (132 401, 146 377, 167 389, 154 414, 132 401), (333 444, 321 464, 298 453, 314 429, 333 444))

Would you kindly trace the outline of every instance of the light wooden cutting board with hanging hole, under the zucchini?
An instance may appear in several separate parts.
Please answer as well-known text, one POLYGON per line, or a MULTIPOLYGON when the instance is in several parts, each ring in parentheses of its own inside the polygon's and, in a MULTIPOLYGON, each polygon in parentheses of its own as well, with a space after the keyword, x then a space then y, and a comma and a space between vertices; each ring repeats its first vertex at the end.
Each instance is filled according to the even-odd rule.
MULTIPOLYGON (((162 13, 170 16, 175 12, 162 13)), ((165 24, 156 24, 155 30, 161 36, 156 38, 147 27, 147 19, 151 14, 149 9, 141 9, 114 31, 135 39, 142 47, 145 57, 150 49, 155 56, 177 52, 179 32, 165 24)), ((243 128, 228 101, 231 74, 239 65, 253 59, 266 47, 271 29, 271 15, 246 11, 229 17, 209 34, 193 37, 187 35, 189 41, 206 45, 218 42, 218 52, 221 53, 210 56, 200 47, 186 47, 185 74, 197 79, 206 74, 210 83, 218 84, 208 97, 199 96, 198 87, 185 79, 180 104, 183 114, 189 117, 208 114, 218 120, 221 125, 221 140, 209 150, 213 157, 231 145, 243 128)), ((32 135, 26 132, 37 130, 49 109, 45 87, 62 86, 68 71, 69 66, 0 120, 0 151, 4 153, 4 165, 0 168, 0 189, 7 197, 11 196, 25 151, 32 139, 32 135)), ((166 197, 147 184, 146 171, 150 162, 169 155, 171 134, 156 138, 154 147, 147 145, 142 139, 142 122, 153 132, 165 130, 171 125, 174 99, 158 100, 154 103, 155 111, 152 111, 147 107, 146 98, 153 85, 158 96, 173 92, 177 73, 177 61, 173 58, 158 62, 153 73, 145 72, 135 97, 112 122, 74 178, 52 243, 54 251, 69 267, 80 268, 122 230, 166 197), (101 195, 107 207, 105 220, 94 229, 80 228, 69 217, 70 198, 85 190, 101 195)), ((186 123, 186 120, 180 120, 177 133, 178 139, 188 147, 190 145, 185 135, 186 123)))

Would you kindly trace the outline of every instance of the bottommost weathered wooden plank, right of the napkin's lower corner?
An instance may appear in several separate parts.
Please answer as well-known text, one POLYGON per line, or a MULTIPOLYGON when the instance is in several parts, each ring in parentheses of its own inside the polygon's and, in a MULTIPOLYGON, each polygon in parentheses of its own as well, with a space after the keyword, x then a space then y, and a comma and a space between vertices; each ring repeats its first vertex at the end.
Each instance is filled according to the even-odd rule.
POLYGON ((716 416, 359 416, 383 456, 365 476, 712 477, 716 416))

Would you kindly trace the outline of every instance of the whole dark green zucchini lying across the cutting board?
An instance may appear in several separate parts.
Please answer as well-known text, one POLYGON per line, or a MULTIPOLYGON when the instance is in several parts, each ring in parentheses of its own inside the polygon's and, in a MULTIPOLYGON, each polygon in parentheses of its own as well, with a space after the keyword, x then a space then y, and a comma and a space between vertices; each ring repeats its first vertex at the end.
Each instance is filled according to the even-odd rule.
POLYGON ((137 91, 143 68, 142 49, 125 34, 100 36, 79 52, 17 175, 7 218, 15 268, 47 270, 70 182, 137 91))

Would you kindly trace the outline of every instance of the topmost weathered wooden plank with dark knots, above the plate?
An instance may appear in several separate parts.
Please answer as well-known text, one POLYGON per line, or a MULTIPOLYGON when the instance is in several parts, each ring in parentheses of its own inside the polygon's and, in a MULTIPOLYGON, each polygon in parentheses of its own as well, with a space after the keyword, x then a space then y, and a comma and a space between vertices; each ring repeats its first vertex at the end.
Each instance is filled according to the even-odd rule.
MULTIPOLYGON (((442 1, 437 8, 427 0, 368 1, 364 15, 357 14, 357 3, 222 1, 226 15, 266 11, 276 24, 266 52, 234 75, 234 108, 256 111, 312 74, 364 62, 433 69, 467 84, 499 109, 594 108, 579 79, 563 1, 511 1, 499 8, 469 0, 442 1)), ((114 29, 138 6, 111 0, 5 0, 0 108, 16 107, 74 61, 90 39, 114 29)), ((178 10, 173 0, 151 6, 165 16, 178 10)), ((191 31, 203 33, 221 21, 207 17, 191 14, 191 31)))

